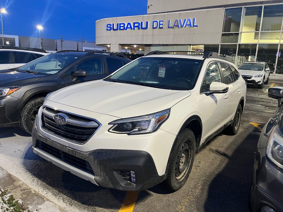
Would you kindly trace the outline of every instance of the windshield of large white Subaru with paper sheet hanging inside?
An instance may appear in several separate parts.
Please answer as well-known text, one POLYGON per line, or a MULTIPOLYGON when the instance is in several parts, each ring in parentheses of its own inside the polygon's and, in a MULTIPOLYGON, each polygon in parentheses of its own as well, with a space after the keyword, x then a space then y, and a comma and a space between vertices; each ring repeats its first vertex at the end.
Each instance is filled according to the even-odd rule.
POLYGON ((202 60, 141 57, 105 80, 171 90, 191 90, 201 65, 202 60))

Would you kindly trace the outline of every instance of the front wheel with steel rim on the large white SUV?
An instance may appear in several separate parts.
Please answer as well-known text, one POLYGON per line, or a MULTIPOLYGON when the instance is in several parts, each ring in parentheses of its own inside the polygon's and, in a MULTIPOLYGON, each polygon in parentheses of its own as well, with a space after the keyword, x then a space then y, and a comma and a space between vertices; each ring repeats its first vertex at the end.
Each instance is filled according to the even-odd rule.
POLYGON ((169 156, 167 178, 164 184, 171 192, 182 188, 188 180, 194 163, 195 152, 194 133, 186 128, 178 135, 178 140, 169 156))

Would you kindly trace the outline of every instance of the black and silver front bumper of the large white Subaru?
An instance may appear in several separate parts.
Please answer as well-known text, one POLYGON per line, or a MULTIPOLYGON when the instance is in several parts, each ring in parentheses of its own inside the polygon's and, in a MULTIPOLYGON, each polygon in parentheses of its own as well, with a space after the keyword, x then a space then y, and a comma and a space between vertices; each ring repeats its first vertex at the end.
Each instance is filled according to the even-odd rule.
POLYGON ((125 191, 139 191, 157 185, 166 178, 166 174, 162 176, 157 174, 151 155, 144 151, 98 149, 82 152, 55 143, 42 136, 36 122, 33 127, 32 138, 33 152, 56 166, 98 186, 125 191), (42 148, 42 145, 45 147, 42 148), (60 154, 56 152, 60 152, 60 154), (62 155, 67 156, 63 157, 62 155), (79 163, 86 161, 93 173, 75 165, 77 162, 72 162, 74 160, 79 161, 79 163), (125 180, 121 171, 134 171, 136 183, 125 180))

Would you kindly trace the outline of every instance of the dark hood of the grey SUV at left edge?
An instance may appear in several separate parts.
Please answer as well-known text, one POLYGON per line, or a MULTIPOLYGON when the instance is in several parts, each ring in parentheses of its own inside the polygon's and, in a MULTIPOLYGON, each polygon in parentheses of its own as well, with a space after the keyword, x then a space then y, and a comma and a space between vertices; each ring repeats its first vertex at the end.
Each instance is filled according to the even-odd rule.
POLYGON ((18 71, 1 70, 0 87, 20 86, 29 82, 36 81, 44 75, 30 74, 18 71))

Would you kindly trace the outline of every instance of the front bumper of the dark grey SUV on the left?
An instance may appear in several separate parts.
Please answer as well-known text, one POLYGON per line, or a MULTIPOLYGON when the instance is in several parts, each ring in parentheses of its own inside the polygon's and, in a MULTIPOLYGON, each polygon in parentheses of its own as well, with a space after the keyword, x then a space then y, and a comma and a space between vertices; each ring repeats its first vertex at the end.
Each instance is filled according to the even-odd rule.
POLYGON ((0 128, 15 127, 20 121, 21 100, 12 97, 0 97, 0 128))

